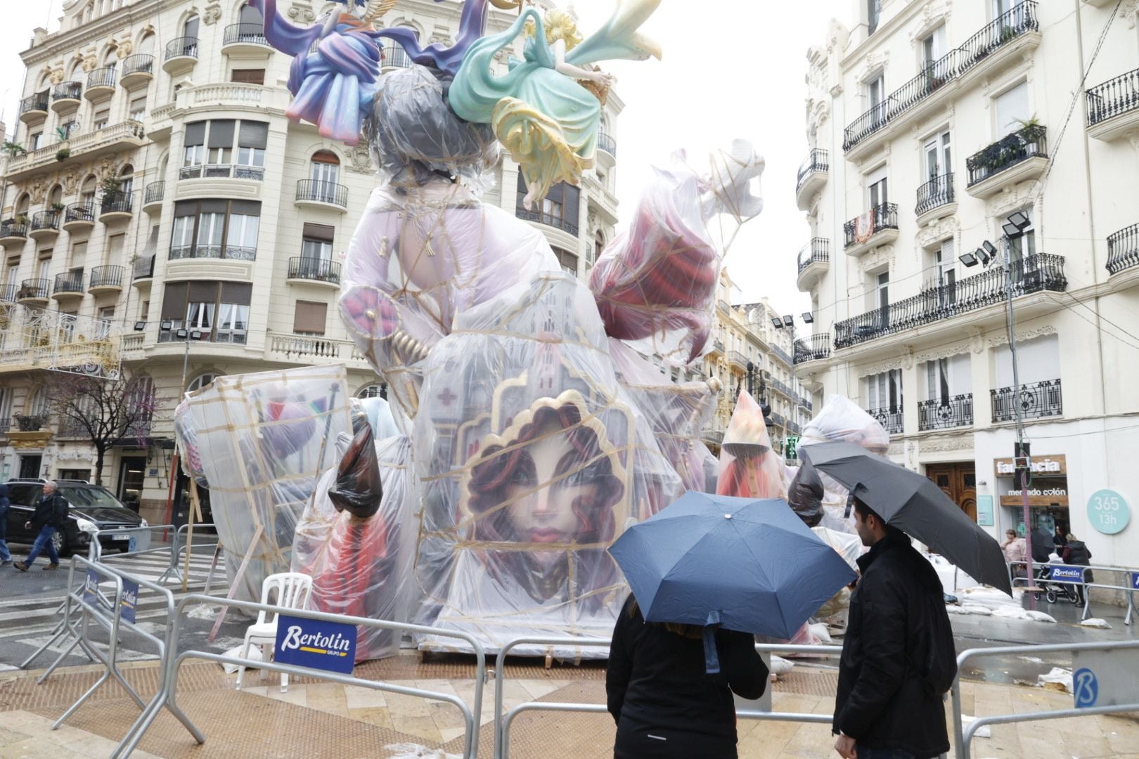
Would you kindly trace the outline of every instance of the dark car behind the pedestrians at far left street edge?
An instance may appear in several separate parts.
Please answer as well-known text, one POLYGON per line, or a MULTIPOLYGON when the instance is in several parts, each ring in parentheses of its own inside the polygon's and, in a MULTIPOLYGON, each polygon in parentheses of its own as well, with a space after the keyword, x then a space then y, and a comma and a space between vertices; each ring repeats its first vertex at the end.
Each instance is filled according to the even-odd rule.
MULTIPOLYGON (((35 535, 31 529, 24 527, 24 522, 32 520, 35 502, 43 495, 43 481, 9 480, 6 485, 8 486, 8 500, 11 501, 11 508, 8 510, 8 541, 32 543, 35 535)), ((56 487, 59 495, 67 498, 67 503, 71 504, 67 526, 63 530, 56 530, 52 537, 56 551, 62 556, 68 556, 76 551, 87 552, 91 544, 90 529, 92 525, 95 529, 99 530, 147 526, 145 519, 120 503, 118 498, 105 487, 81 480, 56 480, 56 487), (88 523, 81 523, 80 520, 88 523)), ((112 531, 100 535, 99 543, 104 550, 125 550, 130 545, 131 537, 138 542, 148 542, 146 533, 116 535, 112 531)))

